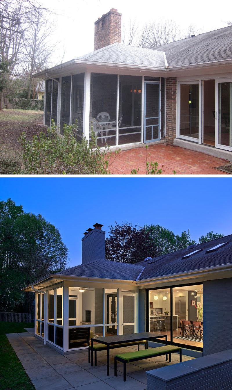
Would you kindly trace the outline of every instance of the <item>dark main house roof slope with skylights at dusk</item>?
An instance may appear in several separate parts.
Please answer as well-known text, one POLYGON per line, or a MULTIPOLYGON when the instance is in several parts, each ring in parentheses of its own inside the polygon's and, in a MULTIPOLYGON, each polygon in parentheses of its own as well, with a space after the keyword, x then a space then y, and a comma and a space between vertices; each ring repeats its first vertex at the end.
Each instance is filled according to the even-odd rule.
MULTIPOLYGON (((232 235, 198 244, 197 247, 193 249, 181 249, 165 255, 165 257, 158 256, 150 261, 154 260, 156 261, 153 264, 148 264, 149 261, 145 264, 145 269, 139 280, 232 263, 232 235), (217 249, 215 252, 206 253, 206 250, 227 241, 229 244, 222 246, 222 248, 217 249), (197 252, 190 257, 182 259, 183 256, 198 249, 202 249, 201 252, 197 252)), ((141 264, 141 262, 139 264, 141 264)))

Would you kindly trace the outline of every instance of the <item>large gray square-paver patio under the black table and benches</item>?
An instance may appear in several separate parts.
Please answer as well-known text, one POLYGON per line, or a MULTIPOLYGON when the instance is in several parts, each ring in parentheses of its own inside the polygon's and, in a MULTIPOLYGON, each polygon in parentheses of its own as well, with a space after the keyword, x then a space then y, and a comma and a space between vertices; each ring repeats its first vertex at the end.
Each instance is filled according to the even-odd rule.
MULTIPOLYGON (((110 375, 106 376, 106 351, 98 352, 96 367, 88 362, 88 351, 61 355, 49 346, 44 346, 31 333, 7 334, 10 344, 22 363, 31 382, 37 390, 145 390, 147 389, 146 371, 179 362, 179 355, 172 354, 172 362, 165 356, 150 358, 127 364, 127 380, 123 381, 123 366, 118 362, 118 375, 114 376, 113 356, 119 352, 131 352, 133 347, 112 349, 110 357, 110 375)), ((193 359, 183 356, 182 360, 193 359)))

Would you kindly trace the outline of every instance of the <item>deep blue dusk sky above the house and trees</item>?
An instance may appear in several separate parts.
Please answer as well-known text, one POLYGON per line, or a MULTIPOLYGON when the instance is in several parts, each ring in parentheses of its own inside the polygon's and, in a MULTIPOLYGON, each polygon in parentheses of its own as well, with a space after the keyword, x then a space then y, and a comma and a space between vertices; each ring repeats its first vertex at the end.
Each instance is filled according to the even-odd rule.
MULTIPOLYGON (((209 231, 232 234, 232 181, 228 177, 0 178, 0 200, 11 198, 24 212, 41 214, 60 231, 69 266, 81 262, 88 227, 132 222, 159 224, 198 242, 209 231)), ((145 257, 149 254, 145 254, 145 257)))

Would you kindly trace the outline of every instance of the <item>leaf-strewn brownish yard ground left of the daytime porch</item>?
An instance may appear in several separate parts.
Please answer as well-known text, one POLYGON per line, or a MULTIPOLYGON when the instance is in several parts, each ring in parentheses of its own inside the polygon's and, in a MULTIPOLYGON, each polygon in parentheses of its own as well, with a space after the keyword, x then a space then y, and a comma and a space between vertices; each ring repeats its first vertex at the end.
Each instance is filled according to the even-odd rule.
POLYGON ((42 111, 34 110, 3 110, 0 112, 0 151, 7 154, 21 154, 22 147, 18 138, 26 133, 28 140, 40 131, 46 131, 43 126, 42 111))

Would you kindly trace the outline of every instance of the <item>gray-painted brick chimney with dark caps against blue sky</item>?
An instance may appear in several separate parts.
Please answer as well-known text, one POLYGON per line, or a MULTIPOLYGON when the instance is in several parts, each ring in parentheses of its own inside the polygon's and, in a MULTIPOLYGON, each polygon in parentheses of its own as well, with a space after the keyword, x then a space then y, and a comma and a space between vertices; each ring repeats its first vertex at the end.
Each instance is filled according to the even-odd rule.
POLYGON ((103 225, 95 223, 94 229, 87 229, 82 238, 82 264, 100 259, 105 260, 105 231, 103 225))

